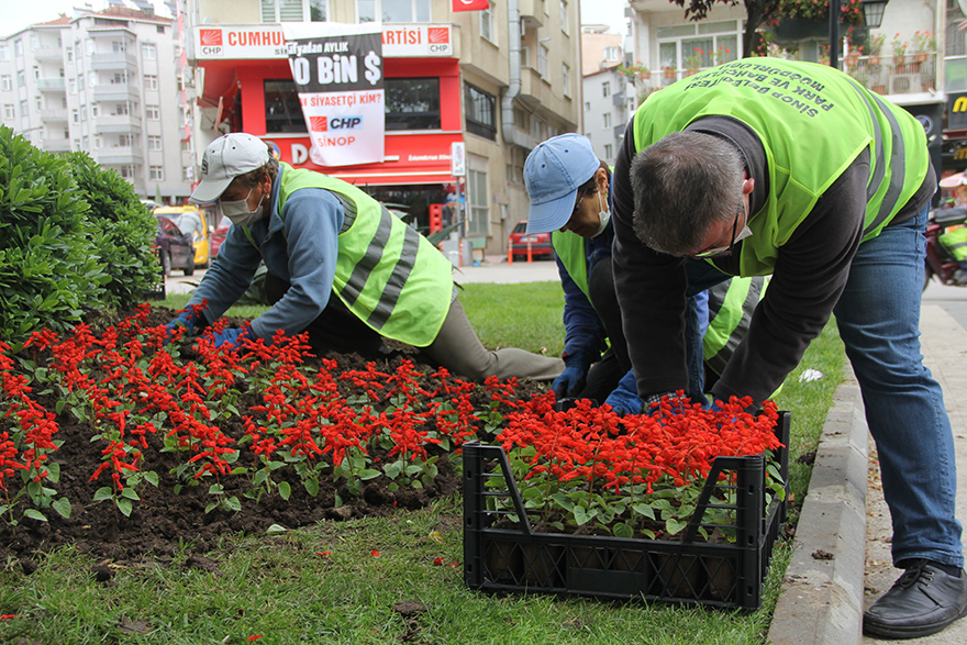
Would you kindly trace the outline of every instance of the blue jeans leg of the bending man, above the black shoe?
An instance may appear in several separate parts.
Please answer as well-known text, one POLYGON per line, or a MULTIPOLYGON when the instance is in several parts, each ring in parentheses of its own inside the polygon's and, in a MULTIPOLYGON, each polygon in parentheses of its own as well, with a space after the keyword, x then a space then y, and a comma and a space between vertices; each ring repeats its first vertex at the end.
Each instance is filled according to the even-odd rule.
POLYGON ((893 523, 893 563, 963 566, 954 437, 920 353, 927 209, 860 244, 833 313, 863 392, 893 523))

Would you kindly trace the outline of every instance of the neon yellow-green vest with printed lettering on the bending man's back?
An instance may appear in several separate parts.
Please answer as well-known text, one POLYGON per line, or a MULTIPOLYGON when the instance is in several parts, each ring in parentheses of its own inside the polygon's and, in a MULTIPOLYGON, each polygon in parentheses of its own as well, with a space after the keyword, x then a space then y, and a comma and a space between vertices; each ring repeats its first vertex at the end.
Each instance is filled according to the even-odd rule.
POLYGON ((879 234, 929 171, 923 126, 909 112, 838 70, 770 58, 726 63, 653 92, 634 116, 635 148, 710 115, 746 124, 766 152, 769 194, 748 221, 743 276, 773 273, 778 248, 865 148, 871 168, 864 240, 879 234))

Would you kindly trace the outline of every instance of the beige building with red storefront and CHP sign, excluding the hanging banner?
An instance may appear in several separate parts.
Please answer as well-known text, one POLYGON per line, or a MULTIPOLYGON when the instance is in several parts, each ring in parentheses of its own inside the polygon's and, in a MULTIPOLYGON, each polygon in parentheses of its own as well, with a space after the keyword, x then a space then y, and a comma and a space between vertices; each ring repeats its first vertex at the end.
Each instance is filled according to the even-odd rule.
POLYGON ((454 12, 452 0, 189 0, 185 18, 197 160, 220 134, 248 132, 282 162, 405 205, 421 226, 434 204, 455 204, 463 234, 491 253, 505 253, 510 231, 526 218, 527 153, 578 130, 577 0, 491 0, 487 10, 466 12, 454 12), (282 46, 287 22, 379 24, 381 162, 313 160, 282 46), (459 177, 454 149, 465 151, 459 177))

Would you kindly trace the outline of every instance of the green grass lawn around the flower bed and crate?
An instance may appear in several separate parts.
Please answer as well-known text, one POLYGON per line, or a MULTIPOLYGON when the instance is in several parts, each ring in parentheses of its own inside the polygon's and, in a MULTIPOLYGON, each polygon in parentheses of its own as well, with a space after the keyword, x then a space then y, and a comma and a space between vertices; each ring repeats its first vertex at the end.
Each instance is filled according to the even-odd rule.
MULTIPOLYGON (((485 345, 563 348, 556 282, 468 285, 460 300, 485 345)), ((186 301, 171 297, 164 304, 186 301)), ((258 313, 246 311, 231 313, 258 313)), ((810 475, 797 458, 816 447, 844 363, 831 324, 777 398, 792 413, 796 500, 810 475), (808 368, 826 377, 799 382, 808 368)), ((788 545, 777 548, 764 607, 754 612, 499 597, 467 589, 462 567, 449 566, 463 560, 462 524, 460 499, 452 499, 280 535, 226 535, 203 558, 186 548, 112 569, 107 582, 91 575, 98 563, 71 548, 38 557, 32 575, 5 563, 0 643, 753 644, 764 641, 790 555, 788 545), (401 601, 421 611, 401 613, 394 609, 401 601)), ((191 538, 185 536, 186 546, 191 538)))

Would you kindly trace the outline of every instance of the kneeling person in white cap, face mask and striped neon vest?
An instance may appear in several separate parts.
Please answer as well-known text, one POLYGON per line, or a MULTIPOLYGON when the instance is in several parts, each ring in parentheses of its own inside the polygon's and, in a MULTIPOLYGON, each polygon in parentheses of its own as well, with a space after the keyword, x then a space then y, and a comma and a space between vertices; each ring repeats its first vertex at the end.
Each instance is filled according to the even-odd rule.
POLYGON ((190 201, 218 202, 232 225, 188 311, 169 329, 184 325, 191 334, 214 322, 264 262, 275 303, 249 326, 218 334, 216 345, 309 331, 316 353, 377 357, 384 338, 392 338, 471 380, 549 380, 564 368, 556 357, 486 349, 456 298, 451 263, 358 188, 279 163, 265 142, 241 132, 205 148, 201 178, 190 201))

